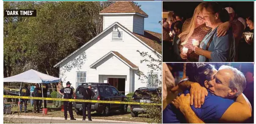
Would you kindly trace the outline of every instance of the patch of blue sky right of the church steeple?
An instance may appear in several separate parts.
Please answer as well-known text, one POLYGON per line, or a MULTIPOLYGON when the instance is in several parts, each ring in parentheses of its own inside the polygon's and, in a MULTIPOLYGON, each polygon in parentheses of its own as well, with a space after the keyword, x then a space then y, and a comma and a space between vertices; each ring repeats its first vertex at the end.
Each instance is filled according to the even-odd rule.
POLYGON ((144 29, 161 33, 161 25, 158 23, 162 18, 162 2, 161 1, 135 1, 141 5, 141 9, 147 13, 145 18, 144 29))

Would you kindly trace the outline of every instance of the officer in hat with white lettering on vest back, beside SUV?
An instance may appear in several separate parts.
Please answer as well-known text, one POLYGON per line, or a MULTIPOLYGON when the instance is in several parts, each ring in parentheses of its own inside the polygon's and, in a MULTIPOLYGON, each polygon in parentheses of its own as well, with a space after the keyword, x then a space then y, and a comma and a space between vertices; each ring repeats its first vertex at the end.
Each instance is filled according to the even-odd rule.
MULTIPOLYGON (((66 85, 67 85, 67 87, 61 89, 60 91, 58 91, 58 93, 61 94, 64 99, 72 99, 73 90, 72 90, 72 88, 70 88, 70 85, 71 85, 70 81, 67 81, 66 85)), ((64 101, 64 117, 65 117, 65 120, 67 120, 67 109, 70 113, 70 120, 76 120, 74 118, 73 111, 72 111, 72 102, 64 101)))

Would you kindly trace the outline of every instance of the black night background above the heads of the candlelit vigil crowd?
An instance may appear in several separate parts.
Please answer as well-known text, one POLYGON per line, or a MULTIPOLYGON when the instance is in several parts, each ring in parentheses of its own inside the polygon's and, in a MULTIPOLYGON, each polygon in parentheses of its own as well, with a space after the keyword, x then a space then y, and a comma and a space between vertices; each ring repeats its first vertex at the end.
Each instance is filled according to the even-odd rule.
MULTIPOLYGON (((198 4, 206 1, 163 1, 163 9, 181 14, 185 19, 191 18, 198 4)), ((232 7, 239 17, 254 16, 253 1, 217 1, 223 8, 232 7)))

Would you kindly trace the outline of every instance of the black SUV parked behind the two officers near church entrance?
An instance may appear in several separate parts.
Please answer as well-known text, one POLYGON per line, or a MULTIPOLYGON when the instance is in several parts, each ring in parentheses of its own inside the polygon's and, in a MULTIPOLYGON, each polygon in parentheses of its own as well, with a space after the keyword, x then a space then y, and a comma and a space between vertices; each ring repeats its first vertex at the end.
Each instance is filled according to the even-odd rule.
MULTIPOLYGON (((118 92, 114 86, 110 86, 108 83, 83 83, 77 87, 75 91, 74 99, 83 99, 82 91, 84 88, 92 86, 93 97, 92 100, 105 100, 105 101, 120 101, 127 102, 127 97, 118 92)), ((83 115, 82 102, 73 102, 73 107, 78 115, 83 115)), ((111 103, 94 103, 92 102, 92 112, 102 113, 104 116, 108 116, 110 111, 119 110, 122 113, 127 112, 127 104, 111 104, 111 103)))

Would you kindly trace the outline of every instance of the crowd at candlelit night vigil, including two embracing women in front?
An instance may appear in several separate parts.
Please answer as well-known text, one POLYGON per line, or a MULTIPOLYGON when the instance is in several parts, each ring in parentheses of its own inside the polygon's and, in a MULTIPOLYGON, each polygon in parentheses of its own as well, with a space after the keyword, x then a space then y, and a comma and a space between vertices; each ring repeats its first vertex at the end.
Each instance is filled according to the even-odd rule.
POLYGON ((163 62, 253 62, 253 15, 202 2, 189 19, 174 11, 162 21, 163 62))

